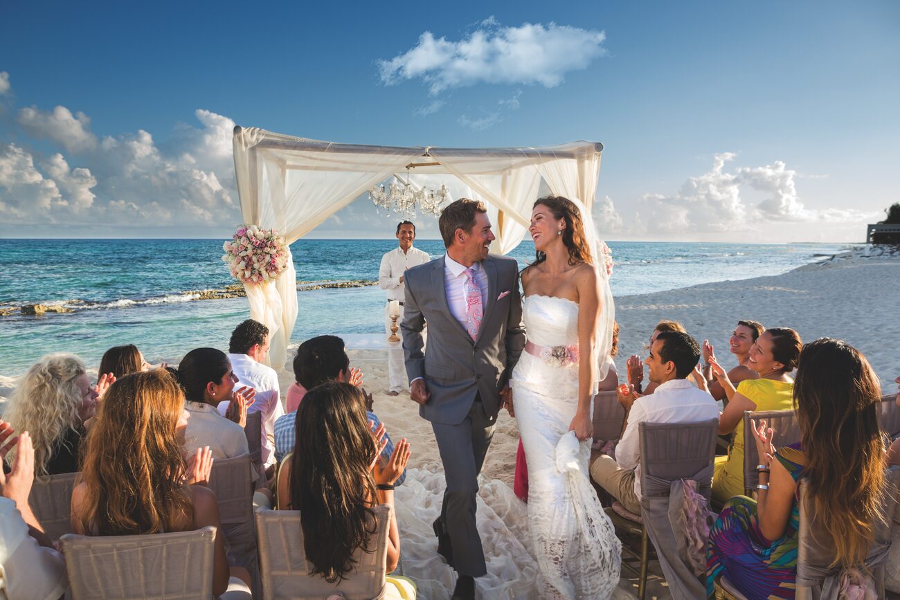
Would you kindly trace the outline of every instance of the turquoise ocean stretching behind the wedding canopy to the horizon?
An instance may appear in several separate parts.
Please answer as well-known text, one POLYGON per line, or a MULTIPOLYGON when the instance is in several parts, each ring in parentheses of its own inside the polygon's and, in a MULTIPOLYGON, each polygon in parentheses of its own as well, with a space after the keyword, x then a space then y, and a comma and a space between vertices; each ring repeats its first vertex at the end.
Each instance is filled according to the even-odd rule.
MULTIPOLYGON (((41 355, 71 352, 96 368, 112 345, 135 344, 151 363, 191 348, 227 349, 231 329, 249 316, 246 298, 193 300, 190 291, 234 281, 215 239, 0 239, 0 308, 45 303, 74 312, 0 316, 0 374, 24 372, 41 355)), ((291 246, 299 281, 375 281, 394 239, 302 239, 291 246)), ((417 240, 433 257, 438 240, 417 240)), ((704 282, 785 273, 842 249, 839 244, 609 242, 614 296, 704 282)), ((534 259, 530 241, 512 253, 534 259)), ((320 334, 383 331, 377 286, 298 291, 292 342, 320 334)))

